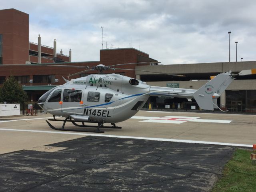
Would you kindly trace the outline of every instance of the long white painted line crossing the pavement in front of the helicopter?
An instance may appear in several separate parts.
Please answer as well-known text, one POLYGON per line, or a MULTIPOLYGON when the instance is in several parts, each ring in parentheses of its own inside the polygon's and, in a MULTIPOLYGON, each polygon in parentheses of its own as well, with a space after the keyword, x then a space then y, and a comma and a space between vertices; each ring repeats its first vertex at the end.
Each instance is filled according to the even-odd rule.
POLYGON ((120 135, 75 133, 75 132, 65 132, 65 131, 40 131, 40 130, 22 130, 22 129, 6 129, 6 128, 0 128, 0 130, 3 130, 3 131, 37 132, 37 133, 53 133, 53 134, 70 134, 70 135, 86 135, 86 136, 99 136, 99 137, 110 137, 110 138, 142 139, 142 140, 170 141, 170 142, 183 142, 183 143, 196 143, 196 144, 213 144, 213 145, 238 146, 238 147, 252 147, 252 145, 236 144, 236 143, 221 143, 221 142, 193 141, 193 140, 179 140, 179 139, 165 139, 165 138, 150 138, 150 137, 133 137, 133 136, 120 136, 120 135))

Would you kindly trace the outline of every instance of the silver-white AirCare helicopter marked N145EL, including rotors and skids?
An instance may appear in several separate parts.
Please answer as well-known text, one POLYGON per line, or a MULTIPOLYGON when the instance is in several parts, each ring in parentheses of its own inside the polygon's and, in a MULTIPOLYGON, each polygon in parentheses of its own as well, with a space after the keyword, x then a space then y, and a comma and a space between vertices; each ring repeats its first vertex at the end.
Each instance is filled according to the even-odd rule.
POLYGON ((194 98, 201 109, 214 110, 214 108, 218 108, 217 98, 235 79, 235 76, 256 73, 255 69, 243 70, 239 74, 234 74, 230 70, 230 72, 214 76, 212 80, 200 89, 194 90, 149 86, 146 82, 128 76, 103 73, 104 70, 120 69, 113 67, 118 65, 124 64, 112 66, 100 64, 92 69, 78 72, 76 74, 90 70, 99 71, 98 74, 90 74, 70 81, 64 78, 65 84, 57 86, 42 95, 38 100, 38 104, 44 111, 54 116, 53 119, 49 120, 63 122, 62 128, 55 128, 46 120, 50 128, 54 130, 100 133, 104 132, 100 128, 121 128, 117 127, 115 123, 134 116, 144 106, 149 96, 180 97, 186 98, 188 101, 194 98), (55 116, 65 117, 65 120, 56 119, 55 116), (80 127, 96 127, 96 130, 64 129, 66 122, 72 122, 72 124, 80 127), (81 122, 82 125, 77 124, 78 122, 81 122), (98 123, 98 126, 87 126, 85 123, 98 123), (111 123, 112 126, 103 126, 104 123, 111 123))

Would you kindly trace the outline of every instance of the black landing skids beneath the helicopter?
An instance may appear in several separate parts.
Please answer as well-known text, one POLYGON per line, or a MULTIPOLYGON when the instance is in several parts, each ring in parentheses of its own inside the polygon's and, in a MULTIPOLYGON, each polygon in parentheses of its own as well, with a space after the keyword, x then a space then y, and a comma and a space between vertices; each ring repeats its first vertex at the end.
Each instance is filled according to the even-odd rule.
MULTIPOLYGON (((83 121, 74 121, 71 120, 70 118, 66 118, 65 120, 60 120, 60 119, 48 119, 49 121, 62 121, 62 128, 56 128, 52 124, 50 124, 47 120, 46 122, 50 126, 50 128, 57 130, 57 131, 75 131, 75 132, 92 132, 92 133, 104 133, 104 131, 100 130, 100 128, 112 128, 112 129, 121 129, 122 127, 117 127, 114 123, 111 123, 112 126, 103 126, 103 123, 98 122, 98 126, 88 126, 85 125, 83 121), (75 126, 79 127, 89 127, 89 128, 96 128, 95 130, 88 130, 88 129, 64 129, 66 122, 72 122, 75 126), (82 125, 77 124, 77 122, 82 122, 82 125)), ((97 122, 86 122, 86 123, 97 123, 97 122)))

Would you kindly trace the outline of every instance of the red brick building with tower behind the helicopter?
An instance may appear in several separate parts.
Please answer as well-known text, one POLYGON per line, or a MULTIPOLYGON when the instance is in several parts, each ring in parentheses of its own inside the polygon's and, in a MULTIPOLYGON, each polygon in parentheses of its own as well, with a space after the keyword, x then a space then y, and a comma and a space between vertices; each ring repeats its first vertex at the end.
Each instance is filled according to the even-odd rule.
MULTIPOLYGON (((12 64, 44 64, 67 62, 75 66, 106 66, 134 62, 157 62, 149 58, 149 55, 134 48, 106 49, 100 50, 100 61, 71 62, 71 50, 69 56, 56 52, 56 40, 53 47, 41 44, 41 37, 38 42, 29 42, 29 16, 16 9, 0 10, 0 65, 12 64)), ((135 64, 124 65, 121 68, 135 69, 135 64)), ((54 86, 64 84, 62 78, 69 74, 82 71, 81 68, 66 68, 55 66, 1 66, 0 85, 8 78, 14 76, 23 89, 28 93, 29 101, 35 102, 47 90, 54 86)), ((115 73, 124 74, 135 78, 134 71, 115 70, 115 73)), ((95 71, 80 74, 72 78, 78 78, 93 74, 95 71)), ((113 73, 113 71, 106 71, 113 73)))

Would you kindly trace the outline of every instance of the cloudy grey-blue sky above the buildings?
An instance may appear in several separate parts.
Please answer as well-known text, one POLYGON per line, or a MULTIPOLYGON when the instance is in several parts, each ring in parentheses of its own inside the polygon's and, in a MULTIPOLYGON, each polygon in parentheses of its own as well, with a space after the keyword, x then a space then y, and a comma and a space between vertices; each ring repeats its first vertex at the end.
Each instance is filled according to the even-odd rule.
POLYGON ((0 9, 29 14, 29 39, 72 61, 94 61, 103 48, 133 47, 162 64, 256 60, 255 0, 6 0, 0 9), (106 41, 108 44, 106 45, 106 41))

